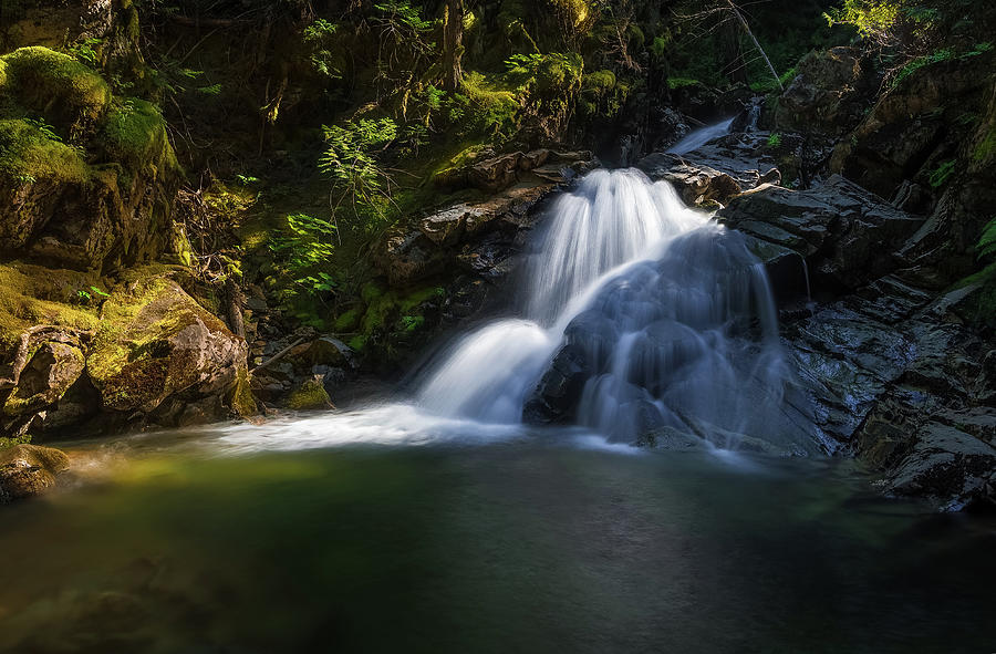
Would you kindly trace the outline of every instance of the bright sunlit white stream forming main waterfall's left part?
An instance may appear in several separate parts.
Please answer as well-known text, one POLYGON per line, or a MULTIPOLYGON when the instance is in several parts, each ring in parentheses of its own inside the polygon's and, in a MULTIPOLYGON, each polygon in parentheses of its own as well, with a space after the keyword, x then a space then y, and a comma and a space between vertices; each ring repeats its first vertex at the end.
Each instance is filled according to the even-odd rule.
POLYGON ((595 170, 561 196, 526 263, 525 315, 461 339, 432 367, 418 404, 433 413, 518 423, 570 320, 620 267, 653 258, 708 224, 670 184, 635 169, 595 170))

